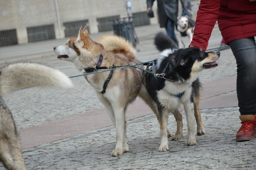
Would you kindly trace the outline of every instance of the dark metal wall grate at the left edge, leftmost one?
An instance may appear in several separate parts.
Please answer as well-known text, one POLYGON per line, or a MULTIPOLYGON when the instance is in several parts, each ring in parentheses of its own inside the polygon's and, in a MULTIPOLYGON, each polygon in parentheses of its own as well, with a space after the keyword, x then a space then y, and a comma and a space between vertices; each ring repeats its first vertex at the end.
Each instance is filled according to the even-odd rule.
POLYGON ((0 47, 18 44, 16 29, 0 31, 0 47))

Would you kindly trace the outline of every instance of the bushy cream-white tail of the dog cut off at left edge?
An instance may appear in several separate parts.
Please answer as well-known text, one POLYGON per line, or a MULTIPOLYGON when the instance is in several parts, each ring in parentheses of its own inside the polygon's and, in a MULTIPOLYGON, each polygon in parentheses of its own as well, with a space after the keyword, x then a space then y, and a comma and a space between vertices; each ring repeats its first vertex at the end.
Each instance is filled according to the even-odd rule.
POLYGON ((0 70, 0 95, 33 86, 69 88, 73 85, 64 73, 42 64, 17 63, 0 70))

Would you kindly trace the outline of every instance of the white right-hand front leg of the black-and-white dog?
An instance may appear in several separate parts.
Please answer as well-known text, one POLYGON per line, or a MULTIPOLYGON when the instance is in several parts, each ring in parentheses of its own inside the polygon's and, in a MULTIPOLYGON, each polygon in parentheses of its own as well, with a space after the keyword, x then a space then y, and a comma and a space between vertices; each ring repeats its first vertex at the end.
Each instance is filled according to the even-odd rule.
POLYGON ((187 145, 193 146, 197 144, 194 127, 194 103, 187 101, 183 103, 186 119, 187 119, 187 145))

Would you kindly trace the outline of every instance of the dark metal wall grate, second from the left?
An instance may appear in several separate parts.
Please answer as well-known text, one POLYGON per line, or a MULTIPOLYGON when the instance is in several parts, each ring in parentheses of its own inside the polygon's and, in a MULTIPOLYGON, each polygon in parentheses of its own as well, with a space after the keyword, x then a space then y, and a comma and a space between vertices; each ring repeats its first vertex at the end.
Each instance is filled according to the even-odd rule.
POLYGON ((27 27, 28 42, 55 39, 54 25, 27 27))

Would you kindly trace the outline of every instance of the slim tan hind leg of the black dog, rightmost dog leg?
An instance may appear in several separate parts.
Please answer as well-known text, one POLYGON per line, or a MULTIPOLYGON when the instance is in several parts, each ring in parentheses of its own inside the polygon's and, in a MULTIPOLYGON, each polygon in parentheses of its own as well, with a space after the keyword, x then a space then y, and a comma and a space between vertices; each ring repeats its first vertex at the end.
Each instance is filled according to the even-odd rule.
POLYGON ((194 96, 194 115, 196 118, 196 122, 197 122, 197 135, 203 135, 205 134, 205 130, 203 127, 203 122, 202 122, 202 118, 201 118, 201 113, 199 110, 199 95, 194 96))

